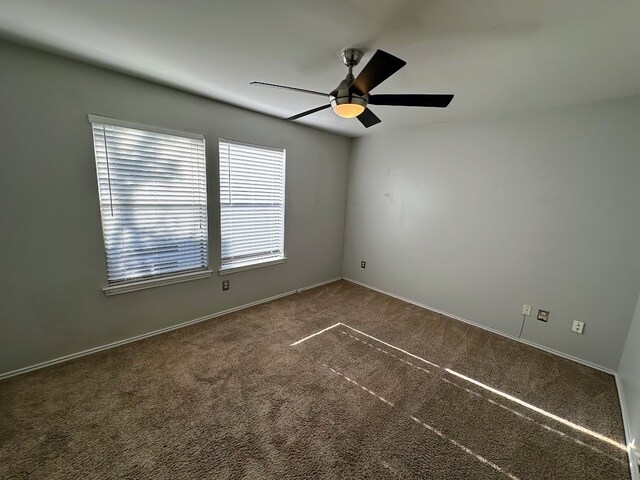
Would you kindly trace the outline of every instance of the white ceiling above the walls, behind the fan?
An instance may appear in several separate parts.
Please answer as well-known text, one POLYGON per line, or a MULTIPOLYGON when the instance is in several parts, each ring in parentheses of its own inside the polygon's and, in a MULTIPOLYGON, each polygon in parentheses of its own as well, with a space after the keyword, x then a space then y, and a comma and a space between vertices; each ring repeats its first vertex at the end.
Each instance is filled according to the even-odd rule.
POLYGON ((349 136, 640 93, 638 0, 0 0, 0 32, 278 117, 323 99, 249 82, 328 92, 349 46, 407 61, 374 93, 455 94, 299 120, 349 136))

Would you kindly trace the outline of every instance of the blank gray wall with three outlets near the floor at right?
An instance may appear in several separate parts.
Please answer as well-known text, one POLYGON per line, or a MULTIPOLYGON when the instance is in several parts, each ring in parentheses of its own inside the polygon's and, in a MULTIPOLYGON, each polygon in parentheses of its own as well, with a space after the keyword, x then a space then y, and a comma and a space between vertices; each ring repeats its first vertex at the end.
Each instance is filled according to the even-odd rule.
POLYGON ((615 369, 640 290, 639 132, 631 97, 361 138, 343 275, 514 336, 523 303, 548 309, 523 338, 615 369))

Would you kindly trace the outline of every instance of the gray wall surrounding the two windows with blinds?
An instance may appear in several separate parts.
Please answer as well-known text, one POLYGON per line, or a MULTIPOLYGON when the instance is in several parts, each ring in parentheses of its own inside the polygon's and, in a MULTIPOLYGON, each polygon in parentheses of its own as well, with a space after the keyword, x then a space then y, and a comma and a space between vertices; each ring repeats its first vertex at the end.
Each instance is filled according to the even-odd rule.
POLYGON ((0 64, 0 373, 340 276, 349 139, 10 43, 0 64), (214 269, 218 136, 285 147, 287 261, 105 297, 88 113, 205 135, 214 269))

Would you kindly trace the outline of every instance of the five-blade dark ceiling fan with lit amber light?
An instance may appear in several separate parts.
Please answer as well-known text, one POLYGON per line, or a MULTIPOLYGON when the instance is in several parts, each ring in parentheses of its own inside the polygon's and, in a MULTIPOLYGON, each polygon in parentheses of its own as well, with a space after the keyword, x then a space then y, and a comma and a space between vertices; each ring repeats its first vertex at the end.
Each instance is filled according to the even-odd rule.
POLYGON ((306 112, 299 113, 287 120, 297 120, 312 113, 331 107, 336 115, 343 118, 357 118, 366 128, 380 123, 381 120, 367 105, 393 105, 404 107, 438 107, 444 108, 451 102, 453 95, 438 94, 382 94, 370 95, 369 92, 396 73, 407 62, 387 53, 377 50, 369 63, 360 71, 357 77, 353 76, 353 67, 360 63, 362 50, 348 48, 342 52, 342 62, 349 68, 349 73, 344 80, 330 93, 316 92, 304 88, 276 85, 274 83, 251 82, 251 85, 263 87, 282 88, 294 92, 308 93, 328 97, 329 103, 306 112))

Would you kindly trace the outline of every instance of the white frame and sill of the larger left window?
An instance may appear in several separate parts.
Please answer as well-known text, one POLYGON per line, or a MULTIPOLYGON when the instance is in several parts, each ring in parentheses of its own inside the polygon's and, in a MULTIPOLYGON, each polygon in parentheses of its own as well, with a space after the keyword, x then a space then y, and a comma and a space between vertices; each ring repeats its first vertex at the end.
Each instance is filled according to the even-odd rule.
MULTIPOLYGON (((160 274, 157 276, 146 276, 146 277, 139 277, 139 278, 134 278, 131 280, 122 280, 122 281, 115 281, 110 283, 107 280, 107 285, 104 286, 102 288, 102 291, 105 293, 105 295, 110 296, 110 295, 117 295, 117 294, 121 294, 121 293, 128 293, 128 292, 133 292, 133 291, 137 291, 137 290, 144 290, 144 289, 148 289, 148 288, 154 288, 154 287, 160 287, 160 286, 164 286, 164 285, 170 285, 170 284, 174 284, 174 283, 181 283, 181 282, 187 282, 187 281, 191 281, 191 280, 199 280, 202 278, 209 278, 211 277, 213 270, 211 270, 210 268, 210 238, 209 238, 209 195, 208 195, 208 182, 207 182, 207 154, 206 154, 206 140, 204 135, 202 134, 197 134, 197 133, 192 133, 192 132, 185 132, 185 131, 180 131, 180 130, 172 130, 172 129, 167 129, 167 128, 162 128, 162 127, 155 127, 155 126, 151 126, 151 125, 145 125, 145 124, 140 124, 140 123, 135 123, 135 122, 129 122, 129 121, 125 121, 125 120, 119 120, 119 119, 114 119, 114 118, 110 118, 110 117, 104 117, 101 115, 94 115, 94 114, 89 114, 88 115, 88 120, 89 120, 89 124, 91 126, 91 136, 92 136, 92 154, 93 154, 93 163, 94 163, 94 168, 95 168, 95 172, 96 172, 96 180, 98 182, 98 207, 100 210, 100 224, 101 224, 101 233, 102 233, 102 243, 103 243, 103 249, 104 249, 104 253, 105 253, 105 269, 108 269, 108 265, 107 265, 107 244, 106 244, 106 237, 105 237, 105 225, 104 225, 104 221, 103 221, 103 215, 102 215, 102 209, 103 209, 103 204, 102 204, 102 198, 100 196, 100 173, 98 171, 98 159, 96 157, 96 145, 95 145, 95 139, 94 139, 94 124, 102 124, 102 125, 106 125, 106 126, 114 126, 114 127, 124 127, 124 128, 130 128, 130 129, 135 129, 135 130, 141 130, 141 131, 147 131, 147 132, 152 132, 152 133, 159 133, 159 134, 164 134, 164 135, 172 135, 172 136, 177 136, 177 137, 182 137, 182 138, 189 138, 189 139, 195 139, 195 140, 202 140, 203 142, 203 154, 204 154, 204 181, 205 181, 205 201, 206 201, 206 206, 205 206, 205 215, 206 215, 206 222, 207 222, 207 229, 206 229, 206 233, 205 233, 205 239, 206 239, 206 260, 205 260, 205 265, 202 268, 198 268, 198 269, 184 269, 184 270, 179 270, 179 271, 175 271, 175 272, 170 272, 170 273, 166 273, 166 274, 160 274)), ((108 273, 108 272, 107 272, 108 273)), ((106 275, 108 278, 108 275, 106 275)))

